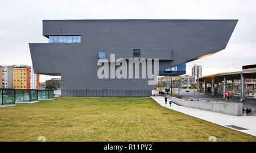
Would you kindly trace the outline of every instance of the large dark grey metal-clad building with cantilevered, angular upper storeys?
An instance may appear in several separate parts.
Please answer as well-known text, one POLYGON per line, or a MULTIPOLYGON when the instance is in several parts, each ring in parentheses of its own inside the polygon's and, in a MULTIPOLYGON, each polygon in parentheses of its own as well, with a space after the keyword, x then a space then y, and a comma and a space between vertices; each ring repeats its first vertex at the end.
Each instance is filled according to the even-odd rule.
POLYGON ((225 49, 237 22, 43 20, 49 43, 29 46, 35 73, 61 76, 62 96, 150 96, 149 78, 98 78, 99 57, 159 59, 159 76, 183 75, 185 63, 225 49))

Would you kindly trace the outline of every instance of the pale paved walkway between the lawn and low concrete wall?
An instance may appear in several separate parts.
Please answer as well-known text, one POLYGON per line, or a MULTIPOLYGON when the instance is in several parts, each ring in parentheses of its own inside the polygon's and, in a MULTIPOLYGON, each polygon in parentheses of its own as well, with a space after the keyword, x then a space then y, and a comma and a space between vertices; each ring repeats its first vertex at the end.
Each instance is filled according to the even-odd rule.
POLYGON ((179 106, 174 103, 168 105, 164 104, 164 97, 162 96, 151 96, 158 104, 168 109, 176 110, 184 114, 191 115, 192 117, 204 119, 205 121, 216 123, 221 126, 228 127, 227 125, 234 125, 242 127, 248 130, 237 130, 231 127, 228 127, 233 130, 241 131, 242 133, 254 135, 256 137, 256 116, 234 116, 228 114, 216 113, 213 111, 193 109, 190 107, 179 106))

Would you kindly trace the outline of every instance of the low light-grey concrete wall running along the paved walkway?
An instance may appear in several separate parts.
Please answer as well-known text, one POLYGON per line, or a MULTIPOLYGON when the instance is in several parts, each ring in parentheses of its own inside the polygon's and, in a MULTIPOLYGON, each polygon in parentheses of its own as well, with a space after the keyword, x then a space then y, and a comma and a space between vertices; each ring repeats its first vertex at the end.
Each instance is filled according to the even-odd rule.
POLYGON ((171 101, 177 105, 191 107, 195 109, 209 110, 217 113, 241 116, 243 105, 232 102, 206 102, 206 101, 184 101, 171 97, 171 101))

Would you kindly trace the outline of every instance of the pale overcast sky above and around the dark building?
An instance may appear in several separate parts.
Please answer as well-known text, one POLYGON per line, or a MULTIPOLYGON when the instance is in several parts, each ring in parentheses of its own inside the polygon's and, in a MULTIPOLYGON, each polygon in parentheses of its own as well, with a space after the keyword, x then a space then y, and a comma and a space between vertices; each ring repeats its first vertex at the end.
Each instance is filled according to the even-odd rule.
MULTIPOLYGON (((187 63, 203 75, 256 64, 256 1, 7 1, 0 0, 0 65, 32 65, 28 43, 48 43, 43 19, 238 19, 226 49, 187 63)), ((40 82, 52 76, 40 75, 40 82)))

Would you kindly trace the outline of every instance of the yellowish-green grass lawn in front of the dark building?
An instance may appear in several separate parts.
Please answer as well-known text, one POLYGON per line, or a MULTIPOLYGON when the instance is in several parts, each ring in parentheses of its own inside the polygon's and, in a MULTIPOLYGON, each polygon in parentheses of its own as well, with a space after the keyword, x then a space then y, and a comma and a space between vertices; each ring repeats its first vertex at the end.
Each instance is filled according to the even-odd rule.
POLYGON ((151 98, 55 98, 0 107, 0 141, 256 141, 151 98))

